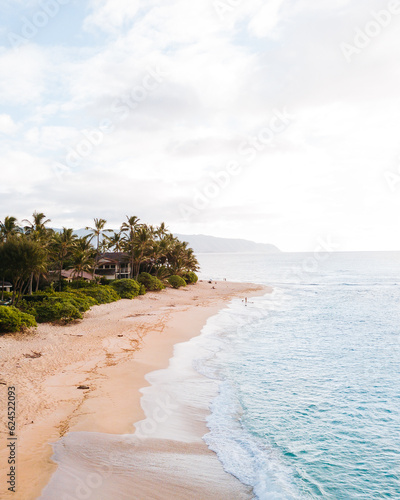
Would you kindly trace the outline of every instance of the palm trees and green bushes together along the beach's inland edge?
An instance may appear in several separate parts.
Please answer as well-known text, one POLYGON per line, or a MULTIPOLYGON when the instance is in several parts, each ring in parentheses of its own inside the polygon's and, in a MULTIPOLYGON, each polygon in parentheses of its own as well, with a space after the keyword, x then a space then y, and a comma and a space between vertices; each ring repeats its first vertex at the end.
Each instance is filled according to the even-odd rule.
POLYGON ((94 305, 197 281, 193 250, 164 223, 154 227, 127 216, 114 231, 105 219, 94 219, 78 237, 50 222, 39 212, 21 224, 12 216, 0 221, 0 333, 67 323, 94 305), (115 268, 101 266, 107 262, 122 262, 123 276, 107 274, 115 268))

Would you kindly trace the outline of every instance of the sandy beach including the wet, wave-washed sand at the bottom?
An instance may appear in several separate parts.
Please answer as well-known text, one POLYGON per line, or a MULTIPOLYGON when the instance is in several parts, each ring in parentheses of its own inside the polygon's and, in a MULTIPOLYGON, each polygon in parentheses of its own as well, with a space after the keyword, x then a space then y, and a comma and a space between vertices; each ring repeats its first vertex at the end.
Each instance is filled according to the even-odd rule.
MULTIPOLYGON (((146 374, 168 367, 174 345, 197 336, 232 298, 268 291, 244 283, 214 286, 199 282, 148 293, 96 306, 79 323, 44 324, 32 334, 0 337, 0 498, 251 498, 202 441, 205 415, 196 415, 190 439, 124 439, 137 433, 134 424, 146 417, 140 404, 140 389, 149 385, 146 374), (7 386, 15 386, 17 394, 17 495, 6 484, 7 386), (111 457, 112 470, 104 440, 118 450, 111 457), (56 442, 58 470, 51 459, 56 442), (62 469, 72 466, 86 478, 102 470, 101 485, 92 484, 92 478, 89 490, 82 489, 83 476, 77 473, 79 487, 66 484, 62 469), (127 496, 130 484, 135 490, 127 496)), ((164 411, 170 405, 168 400, 160 404, 164 411)))

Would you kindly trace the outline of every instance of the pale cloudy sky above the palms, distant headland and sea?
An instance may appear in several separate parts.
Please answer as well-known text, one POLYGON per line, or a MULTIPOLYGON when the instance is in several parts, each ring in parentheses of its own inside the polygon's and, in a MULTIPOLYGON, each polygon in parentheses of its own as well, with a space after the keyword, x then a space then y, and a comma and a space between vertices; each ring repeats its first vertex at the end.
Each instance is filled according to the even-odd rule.
POLYGON ((1 220, 400 250, 400 1, 0 7, 1 220))

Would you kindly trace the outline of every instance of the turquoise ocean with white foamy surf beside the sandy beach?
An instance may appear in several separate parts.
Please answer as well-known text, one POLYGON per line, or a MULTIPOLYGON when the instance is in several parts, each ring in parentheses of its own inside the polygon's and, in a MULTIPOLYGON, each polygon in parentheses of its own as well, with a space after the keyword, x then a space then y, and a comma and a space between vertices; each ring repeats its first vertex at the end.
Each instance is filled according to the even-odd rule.
POLYGON ((400 254, 200 255, 273 294, 212 319, 207 444, 259 499, 400 498, 400 254))

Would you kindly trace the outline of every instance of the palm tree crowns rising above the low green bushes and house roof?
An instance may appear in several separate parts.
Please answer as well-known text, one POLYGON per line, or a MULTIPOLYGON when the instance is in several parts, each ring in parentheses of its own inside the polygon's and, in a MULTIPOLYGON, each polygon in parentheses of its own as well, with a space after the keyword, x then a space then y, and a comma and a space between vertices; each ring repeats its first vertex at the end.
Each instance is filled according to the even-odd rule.
POLYGON ((21 223, 13 216, 0 221, 0 282, 11 281, 13 303, 24 293, 32 293, 44 281, 55 282, 61 290, 64 270, 79 279, 92 274, 106 251, 123 253, 130 263, 130 278, 146 272, 166 282, 172 275, 184 277, 197 271, 198 261, 188 243, 171 234, 165 223, 145 224, 137 216, 126 216, 119 230, 107 229, 107 221, 95 218, 86 236, 72 228, 57 231, 48 227, 50 219, 35 211, 21 223))

